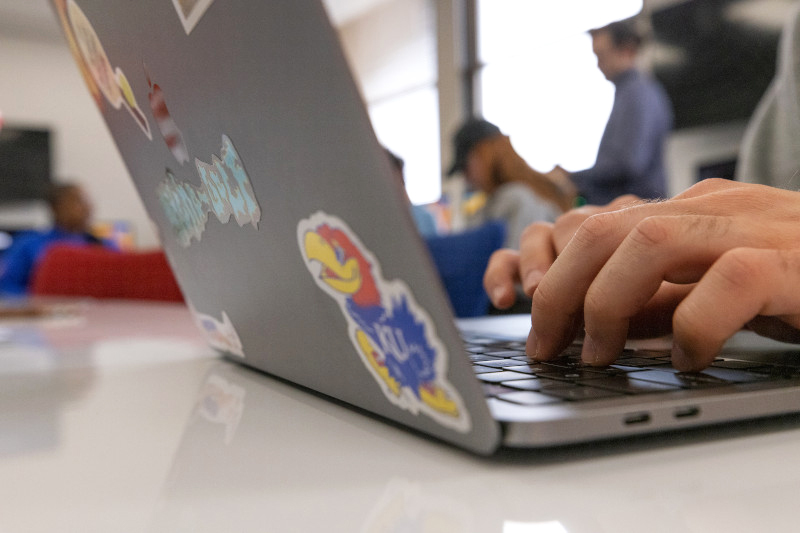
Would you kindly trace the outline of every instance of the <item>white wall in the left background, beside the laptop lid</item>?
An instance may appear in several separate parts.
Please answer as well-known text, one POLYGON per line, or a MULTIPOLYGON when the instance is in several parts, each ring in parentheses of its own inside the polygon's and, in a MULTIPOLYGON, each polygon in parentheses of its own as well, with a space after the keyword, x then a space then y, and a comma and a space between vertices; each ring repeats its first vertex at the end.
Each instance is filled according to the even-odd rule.
MULTIPOLYGON (((126 220, 136 245, 158 245, 154 226, 137 196, 100 112, 78 72, 66 41, 0 35, 0 112, 6 124, 46 126, 54 132, 53 173, 85 186, 95 219, 126 220)), ((5 215, 5 216, 3 216, 5 215)), ((26 207, 0 212, 21 224, 41 221, 26 207)))

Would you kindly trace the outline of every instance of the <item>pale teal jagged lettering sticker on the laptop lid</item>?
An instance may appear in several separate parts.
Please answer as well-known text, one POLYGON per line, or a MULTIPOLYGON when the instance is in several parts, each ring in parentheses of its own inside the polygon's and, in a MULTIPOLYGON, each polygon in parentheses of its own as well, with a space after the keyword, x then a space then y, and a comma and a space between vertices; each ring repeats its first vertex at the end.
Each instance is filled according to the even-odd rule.
POLYGON ((222 136, 220 156, 212 156, 211 163, 194 161, 200 175, 199 187, 178 180, 167 170, 167 179, 156 189, 178 244, 188 248, 192 239, 200 242, 209 212, 222 224, 227 224, 233 215, 239 227, 251 224, 258 229, 261 207, 228 136, 222 136))

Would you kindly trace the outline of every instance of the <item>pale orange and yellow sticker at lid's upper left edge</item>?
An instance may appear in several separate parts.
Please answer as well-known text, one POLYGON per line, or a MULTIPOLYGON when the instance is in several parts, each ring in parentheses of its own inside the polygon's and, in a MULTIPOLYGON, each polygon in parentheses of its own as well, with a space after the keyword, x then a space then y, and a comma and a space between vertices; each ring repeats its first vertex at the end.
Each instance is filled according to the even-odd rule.
POLYGON ((59 15, 67 17, 68 24, 64 24, 64 27, 72 32, 71 37, 74 38, 85 69, 105 100, 114 109, 125 107, 147 138, 153 140, 150 123, 136 102, 128 78, 119 67, 112 67, 92 23, 78 4, 74 0, 67 0, 66 12, 59 10, 59 15))

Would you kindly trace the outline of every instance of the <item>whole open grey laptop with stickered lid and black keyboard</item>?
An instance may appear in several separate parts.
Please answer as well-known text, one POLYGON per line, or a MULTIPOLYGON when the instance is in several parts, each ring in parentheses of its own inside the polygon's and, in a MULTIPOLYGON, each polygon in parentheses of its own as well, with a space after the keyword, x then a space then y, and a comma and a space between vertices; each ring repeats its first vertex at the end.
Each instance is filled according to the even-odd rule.
POLYGON ((530 317, 457 327, 319 0, 54 5, 228 358, 479 454, 800 410, 784 345, 690 375, 626 349, 604 373, 577 348, 528 361, 530 317))

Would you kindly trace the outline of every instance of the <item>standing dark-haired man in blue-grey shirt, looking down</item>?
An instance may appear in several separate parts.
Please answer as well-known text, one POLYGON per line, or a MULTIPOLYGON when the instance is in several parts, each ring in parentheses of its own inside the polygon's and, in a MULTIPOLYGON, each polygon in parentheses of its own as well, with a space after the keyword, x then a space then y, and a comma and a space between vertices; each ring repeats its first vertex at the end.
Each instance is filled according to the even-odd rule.
POLYGON ((597 68, 616 91, 593 167, 548 175, 569 179, 586 203, 602 205, 624 194, 667 197, 664 142, 672 129, 672 105, 661 85, 636 68, 642 38, 630 20, 590 30, 597 68))

